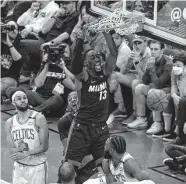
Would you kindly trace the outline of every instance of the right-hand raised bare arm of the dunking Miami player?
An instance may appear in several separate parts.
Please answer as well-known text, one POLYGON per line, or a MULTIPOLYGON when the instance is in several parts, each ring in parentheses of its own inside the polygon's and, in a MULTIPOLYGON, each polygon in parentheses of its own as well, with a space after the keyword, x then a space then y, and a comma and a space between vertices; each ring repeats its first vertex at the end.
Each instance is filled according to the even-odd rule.
POLYGON ((110 75, 116 67, 118 51, 110 33, 103 33, 110 51, 106 61, 106 75, 110 75))

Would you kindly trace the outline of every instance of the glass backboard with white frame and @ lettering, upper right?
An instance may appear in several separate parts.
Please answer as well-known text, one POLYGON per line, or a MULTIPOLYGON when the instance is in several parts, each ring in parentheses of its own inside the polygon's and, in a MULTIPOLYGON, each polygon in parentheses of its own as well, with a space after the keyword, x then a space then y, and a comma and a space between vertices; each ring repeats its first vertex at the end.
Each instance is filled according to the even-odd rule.
POLYGON ((186 50, 186 0, 92 0, 87 10, 94 16, 109 16, 116 8, 128 15, 145 16, 143 31, 138 33, 186 50))

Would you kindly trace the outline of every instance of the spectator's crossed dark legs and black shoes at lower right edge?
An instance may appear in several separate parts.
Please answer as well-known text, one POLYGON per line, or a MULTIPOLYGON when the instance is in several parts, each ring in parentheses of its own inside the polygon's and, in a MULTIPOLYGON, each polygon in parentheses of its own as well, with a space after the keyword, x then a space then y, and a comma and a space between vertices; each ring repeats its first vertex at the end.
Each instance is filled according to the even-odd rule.
POLYGON ((167 146, 165 152, 170 158, 163 160, 163 163, 173 170, 182 171, 186 174, 186 147, 178 145, 167 146))

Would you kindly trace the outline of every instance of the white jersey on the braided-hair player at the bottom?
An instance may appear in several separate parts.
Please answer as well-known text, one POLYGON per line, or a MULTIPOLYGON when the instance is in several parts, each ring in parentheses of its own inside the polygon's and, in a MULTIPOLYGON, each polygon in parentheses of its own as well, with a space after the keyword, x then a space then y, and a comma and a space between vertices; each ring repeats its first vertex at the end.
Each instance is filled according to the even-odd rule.
POLYGON ((138 181, 136 178, 132 178, 131 176, 129 176, 124 169, 124 163, 125 161, 127 161, 128 159, 134 159, 129 153, 125 152, 125 154, 123 155, 121 162, 119 163, 119 165, 115 168, 112 160, 109 160, 109 167, 110 167, 110 171, 114 177, 114 179, 117 182, 136 182, 138 181))

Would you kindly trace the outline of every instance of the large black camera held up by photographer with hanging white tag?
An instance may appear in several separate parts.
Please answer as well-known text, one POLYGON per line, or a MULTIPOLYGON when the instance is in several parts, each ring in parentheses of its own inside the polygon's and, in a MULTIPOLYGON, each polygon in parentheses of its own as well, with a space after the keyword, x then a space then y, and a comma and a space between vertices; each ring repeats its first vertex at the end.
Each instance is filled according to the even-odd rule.
POLYGON ((48 61, 52 64, 60 63, 60 58, 63 56, 66 44, 58 43, 57 45, 46 45, 43 47, 44 52, 48 53, 48 61))

